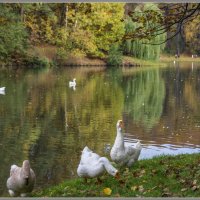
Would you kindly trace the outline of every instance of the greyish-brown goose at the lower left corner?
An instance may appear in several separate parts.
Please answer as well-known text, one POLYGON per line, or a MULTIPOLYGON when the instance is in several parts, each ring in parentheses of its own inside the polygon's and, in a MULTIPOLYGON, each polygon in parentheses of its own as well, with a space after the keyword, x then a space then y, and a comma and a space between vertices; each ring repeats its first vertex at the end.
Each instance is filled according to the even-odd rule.
POLYGON ((24 160, 22 167, 12 165, 10 177, 7 180, 7 188, 10 196, 27 196, 35 185, 35 173, 30 168, 28 160, 24 160))

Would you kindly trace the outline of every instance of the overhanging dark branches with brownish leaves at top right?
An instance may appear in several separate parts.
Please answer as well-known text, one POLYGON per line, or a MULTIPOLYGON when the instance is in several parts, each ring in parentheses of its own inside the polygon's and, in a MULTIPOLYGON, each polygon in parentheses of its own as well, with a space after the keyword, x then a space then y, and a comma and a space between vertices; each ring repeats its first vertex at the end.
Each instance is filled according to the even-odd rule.
POLYGON ((152 12, 151 10, 143 11, 143 15, 136 15, 133 10, 126 11, 133 21, 142 23, 144 27, 146 23, 156 23, 157 26, 149 26, 148 30, 140 28, 139 33, 138 30, 135 30, 132 34, 125 35, 124 39, 153 38, 159 34, 171 32, 172 34, 163 41, 163 43, 165 43, 167 40, 170 40, 181 33, 183 26, 196 18, 200 13, 200 4, 198 3, 159 4, 159 8, 162 10, 162 13, 165 16, 164 18, 162 13, 152 12))

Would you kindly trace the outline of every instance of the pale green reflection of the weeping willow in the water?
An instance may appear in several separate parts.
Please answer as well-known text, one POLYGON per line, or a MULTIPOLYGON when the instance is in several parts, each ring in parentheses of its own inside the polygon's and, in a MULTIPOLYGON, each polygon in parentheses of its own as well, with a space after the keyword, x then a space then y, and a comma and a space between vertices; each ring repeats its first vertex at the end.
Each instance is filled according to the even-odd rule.
POLYGON ((160 119, 165 98, 164 79, 159 69, 137 72, 125 76, 125 111, 137 124, 150 131, 160 119))

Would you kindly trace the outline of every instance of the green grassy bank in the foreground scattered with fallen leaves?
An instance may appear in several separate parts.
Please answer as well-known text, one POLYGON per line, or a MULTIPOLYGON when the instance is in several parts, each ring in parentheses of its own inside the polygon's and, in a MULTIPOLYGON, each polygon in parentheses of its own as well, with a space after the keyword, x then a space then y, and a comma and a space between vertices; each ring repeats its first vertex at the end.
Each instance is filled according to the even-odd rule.
POLYGON ((120 179, 105 174, 96 179, 65 181, 35 191, 35 197, 199 197, 200 154, 162 156, 138 161, 120 170, 120 179))

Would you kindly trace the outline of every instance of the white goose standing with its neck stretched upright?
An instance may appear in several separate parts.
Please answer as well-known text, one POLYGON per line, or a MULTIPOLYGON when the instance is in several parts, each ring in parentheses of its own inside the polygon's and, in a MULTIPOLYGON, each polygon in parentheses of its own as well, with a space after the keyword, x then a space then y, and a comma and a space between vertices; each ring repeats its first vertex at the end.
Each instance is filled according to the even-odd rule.
POLYGON ((142 150, 142 146, 140 141, 136 143, 135 147, 125 145, 122 127, 122 120, 118 120, 117 136, 115 139, 115 143, 111 149, 110 157, 115 163, 119 164, 120 166, 131 167, 134 162, 138 160, 140 152, 142 150))

